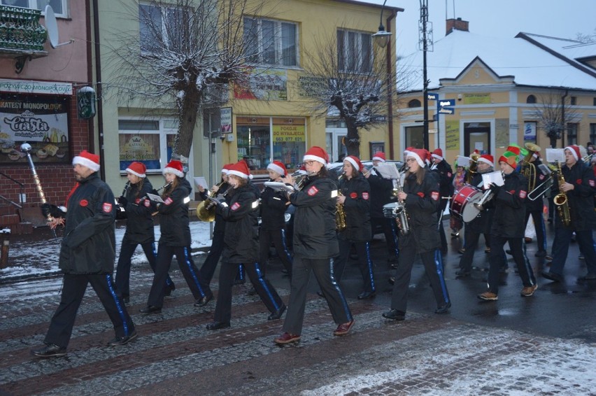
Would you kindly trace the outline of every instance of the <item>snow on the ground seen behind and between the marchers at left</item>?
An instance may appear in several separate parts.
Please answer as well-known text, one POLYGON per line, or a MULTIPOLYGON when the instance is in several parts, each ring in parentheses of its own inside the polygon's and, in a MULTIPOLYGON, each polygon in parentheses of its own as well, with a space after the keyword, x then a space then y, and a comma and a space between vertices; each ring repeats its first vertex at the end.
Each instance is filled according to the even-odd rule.
MULTIPOLYGON (((120 244, 125 234, 125 227, 118 227, 116 235, 116 258, 120 254, 120 244)), ((209 235, 209 223, 193 221, 190 222, 191 248, 205 248, 211 246, 209 235)), ((62 241, 62 232, 57 230, 58 239, 48 239, 44 241, 18 240, 18 236, 12 236, 10 241, 10 250, 8 253, 8 263, 11 267, 0 269, 0 282, 8 278, 27 278, 55 274, 58 269, 58 257, 60 252, 60 243, 62 241), (15 240, 16 239, 16 240, 15 240)), ((159 226, 155 226, 155 241, 159 241, 159 226)), ((157 246, 156 246, 157 247, 157 246)), ((203 254, 202 252, 193 253, 193 255, 203 254)), ((132 257, 132 264, 147 262, 141 246, 136 248, 132 257)))

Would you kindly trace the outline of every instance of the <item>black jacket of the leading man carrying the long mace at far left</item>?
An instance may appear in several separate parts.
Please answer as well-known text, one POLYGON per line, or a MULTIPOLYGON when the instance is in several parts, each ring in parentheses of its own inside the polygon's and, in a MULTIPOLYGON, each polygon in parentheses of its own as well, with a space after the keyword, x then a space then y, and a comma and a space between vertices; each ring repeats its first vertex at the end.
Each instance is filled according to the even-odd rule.
POLYGON ((114 271, 114 195, 97 172, 80 181, 66 201, 59 267, 66 274, 114 271))

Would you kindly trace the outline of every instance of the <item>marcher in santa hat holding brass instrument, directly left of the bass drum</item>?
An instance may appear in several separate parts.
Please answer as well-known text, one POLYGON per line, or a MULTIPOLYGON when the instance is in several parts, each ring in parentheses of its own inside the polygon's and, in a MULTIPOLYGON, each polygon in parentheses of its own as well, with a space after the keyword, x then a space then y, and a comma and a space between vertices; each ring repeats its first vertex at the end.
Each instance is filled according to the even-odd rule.
POLYGON ((441 246, 437 230, 437 211, 439 210, 439 177, 436 172, 425 168, 425 151, 415 148, 409 151, 406 163, 409 171, 403 185, 403 191, 397 197, 403 202, 409 227, 400 224, 399 262, 393 284, 391 309, 383 317, 392 320, 404 320, 408 303, 408 291, 413 262, 420 255, 426 274, 437 302, 435 313, 448 312, 451 302, 443 276, 441 255, 435 252, 441 246), (438 256, 438 259, 437 259, 438 256))

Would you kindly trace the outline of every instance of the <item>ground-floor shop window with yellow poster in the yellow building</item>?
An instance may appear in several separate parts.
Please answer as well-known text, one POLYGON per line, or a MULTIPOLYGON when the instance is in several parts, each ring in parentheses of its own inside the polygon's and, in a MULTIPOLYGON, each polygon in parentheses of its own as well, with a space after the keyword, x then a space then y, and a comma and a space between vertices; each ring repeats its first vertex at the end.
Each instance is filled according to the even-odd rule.
POLYGON ((255 174, 265 174, 267 165, 278 160, 288 169, 302 162, 306 151, 304 118, 236 118, 238 160, 246 160, 255 174))

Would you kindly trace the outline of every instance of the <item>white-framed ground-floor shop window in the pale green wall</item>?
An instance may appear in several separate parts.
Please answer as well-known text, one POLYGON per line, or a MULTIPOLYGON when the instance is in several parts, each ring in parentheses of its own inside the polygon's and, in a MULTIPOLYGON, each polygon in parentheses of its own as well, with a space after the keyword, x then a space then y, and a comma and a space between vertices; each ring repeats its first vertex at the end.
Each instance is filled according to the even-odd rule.
POLYGON ((173 119, 121 118, 118 120, 120 174, 131 162, 143 162, 149 174, 159 173, 172 155, 178 130, 173 119))

